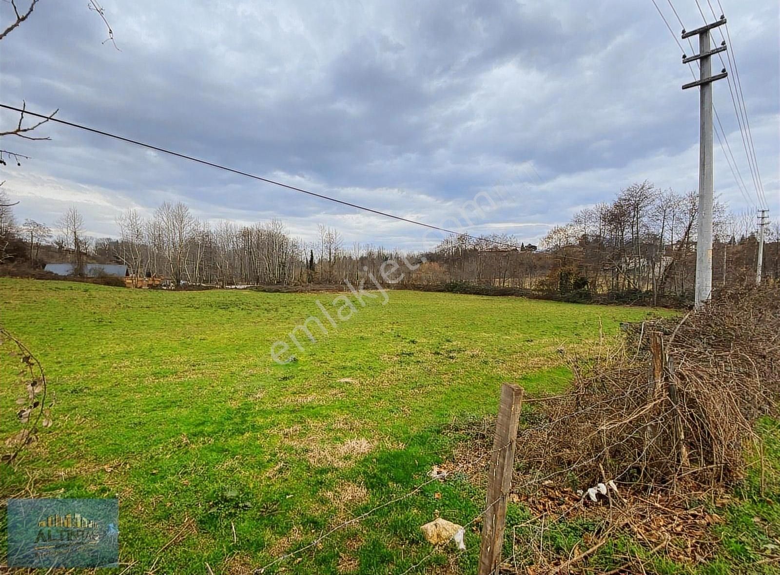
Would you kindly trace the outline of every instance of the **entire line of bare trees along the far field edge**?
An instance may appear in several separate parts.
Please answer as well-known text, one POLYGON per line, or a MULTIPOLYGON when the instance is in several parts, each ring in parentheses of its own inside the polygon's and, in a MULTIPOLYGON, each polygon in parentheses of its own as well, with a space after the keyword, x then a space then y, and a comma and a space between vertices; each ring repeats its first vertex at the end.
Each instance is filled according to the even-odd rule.
MULTIPOLYGON (((151 217, 125 210, 116 238, 90 238, 75 206, 55 228, 19 224, 0 190, 0 265, 123 263, 138 276, 179 285, 335 284, 378 277, 382 263, 420 264, 401 284, 479 284, 566 294, 642 292, 684 297, 693 288, 697 201, 693 192, 661 190, 649 182, 622 189, 611 202, 577 212, 537 245, 513 235, 449 235, 431 249, 403 252, 353 242, 317 225, 317 239, 295 238, 276 218, 252 225, 198 220, 184 203, 163 202, 151 217)), ((778 226, 764 229, 764 276, 778 280, 778 226)), ((757 223, 716 203, 713 285, 747 281, 755 273, 757 223), (751 257, 752 265, 751 265, 751 257)))

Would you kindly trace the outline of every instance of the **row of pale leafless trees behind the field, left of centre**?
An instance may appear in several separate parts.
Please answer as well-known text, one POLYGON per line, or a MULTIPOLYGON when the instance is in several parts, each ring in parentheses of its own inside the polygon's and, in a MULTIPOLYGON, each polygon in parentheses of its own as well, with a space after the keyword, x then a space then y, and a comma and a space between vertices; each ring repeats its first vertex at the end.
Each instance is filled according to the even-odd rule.
POLYGON ((151 218, 126 210, 119 238, 98 240, 96 254, 119 259, 133 273, 170 277, 175 284, 340 283, 360 279, 393 256, 370 245, 347 249, 334 228, 317 240, 289 235, 281 220, 250 226, 198 220, 183 203, 162 203, 151 218))

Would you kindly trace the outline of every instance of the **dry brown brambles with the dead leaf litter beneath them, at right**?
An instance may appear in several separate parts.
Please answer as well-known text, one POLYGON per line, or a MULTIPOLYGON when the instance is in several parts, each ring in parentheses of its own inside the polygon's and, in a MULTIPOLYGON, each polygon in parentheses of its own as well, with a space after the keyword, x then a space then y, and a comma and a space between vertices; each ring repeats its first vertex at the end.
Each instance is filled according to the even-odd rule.
MULTIPOLYGON (((509 501, 531 517, 508 524, 502 573, 590 573, 588 559, 620 535, 644 556, 711 558, 711 527, 723 521, 712 511, 729 503, 746 453, 761 453, 757 418, 777 415, 780 290, 723 291, 682 320, 626 326, 621 347, 572 369, 569 391, 523 412, 509 501), (593 501, 587 490, 599 484, 593 501), (562 552, 550 532, 571 520, 594 527, 562 552)), ((473 447, 490 448, 488 427, 466 432, 473 447)), ((612 573, 646 568, 637 555, 609 553, 626 559, 612 573)))

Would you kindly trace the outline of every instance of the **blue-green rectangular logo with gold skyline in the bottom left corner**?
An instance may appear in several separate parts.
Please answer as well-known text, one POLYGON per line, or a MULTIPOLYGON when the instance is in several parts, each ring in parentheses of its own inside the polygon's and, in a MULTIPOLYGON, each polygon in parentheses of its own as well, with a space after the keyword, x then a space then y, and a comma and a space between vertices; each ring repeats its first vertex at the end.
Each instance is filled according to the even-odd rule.
POLYGON ((118 519, 116 499, 9 499, 8 565, 113 566, 118 519))

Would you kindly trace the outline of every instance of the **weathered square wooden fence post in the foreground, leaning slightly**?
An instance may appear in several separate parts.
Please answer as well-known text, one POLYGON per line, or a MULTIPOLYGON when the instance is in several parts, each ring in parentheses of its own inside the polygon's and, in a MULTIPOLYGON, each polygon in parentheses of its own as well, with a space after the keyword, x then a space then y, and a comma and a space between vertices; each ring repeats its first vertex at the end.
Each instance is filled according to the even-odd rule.
POLYGON ((479 575, 498 573, 498 566, 501 564, 506 503, 509 489, 512 487, 517 426, 522 407, 523 388, 509 383, 502 385, 493 453, 488 469, 487 510, 482 520, 479 575))

